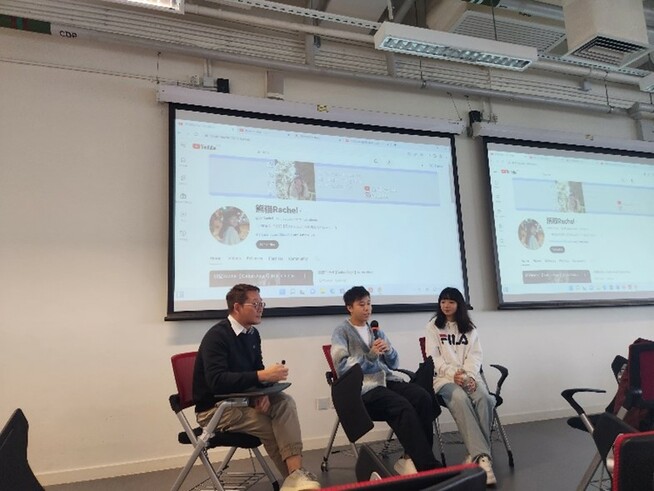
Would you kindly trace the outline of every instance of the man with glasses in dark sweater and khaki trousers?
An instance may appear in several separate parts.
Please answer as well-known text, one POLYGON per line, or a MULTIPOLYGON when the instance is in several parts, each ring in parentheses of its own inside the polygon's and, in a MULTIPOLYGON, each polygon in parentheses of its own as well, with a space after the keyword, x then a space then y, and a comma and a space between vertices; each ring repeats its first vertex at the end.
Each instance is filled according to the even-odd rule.
MULTIPOLYGON (((204 335, 193 372, 193 400, 201 426, 216 411, 214 394, 286 380, 282 363, 263 366, 261 337, 254 327, 261 323, 266 306, 253 285, 234 286, 226 296, 229 316, 204 335)), ((280 392, 258 397, 248 407, 225 410, 218 429, 258 437, 268 456, 285 478, 280 491, 319 489, 316 477, 302 468, 302 436, 292 397, 280 392)))

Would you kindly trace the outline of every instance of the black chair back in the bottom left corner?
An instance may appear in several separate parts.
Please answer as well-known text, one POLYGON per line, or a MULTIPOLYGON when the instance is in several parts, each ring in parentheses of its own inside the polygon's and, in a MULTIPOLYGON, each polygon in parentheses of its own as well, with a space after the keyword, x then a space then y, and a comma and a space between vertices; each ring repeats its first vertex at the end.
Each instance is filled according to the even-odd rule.
POLYGON ((0 432, 0 491, 44 491, 27 462, 28 429, 19 408, 0 432))

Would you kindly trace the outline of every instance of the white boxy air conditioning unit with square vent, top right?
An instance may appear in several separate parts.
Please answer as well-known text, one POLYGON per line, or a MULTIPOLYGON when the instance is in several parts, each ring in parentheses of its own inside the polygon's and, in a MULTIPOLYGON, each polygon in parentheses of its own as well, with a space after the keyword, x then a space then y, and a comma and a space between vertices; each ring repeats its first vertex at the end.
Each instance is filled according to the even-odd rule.
POLYGON ((566 56, 621 68, 650 51, 642 0, 565 0, 566 56))

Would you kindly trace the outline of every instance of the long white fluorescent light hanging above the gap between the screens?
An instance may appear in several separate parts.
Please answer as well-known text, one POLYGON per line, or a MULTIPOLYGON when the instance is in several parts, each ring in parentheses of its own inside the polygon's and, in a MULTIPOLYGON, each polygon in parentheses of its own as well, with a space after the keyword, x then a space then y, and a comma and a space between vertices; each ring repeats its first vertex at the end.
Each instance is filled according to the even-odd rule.
POLYGON ((538 59, 531 46, 383 22, 375 48, 394 53, 522 71, 538 59))

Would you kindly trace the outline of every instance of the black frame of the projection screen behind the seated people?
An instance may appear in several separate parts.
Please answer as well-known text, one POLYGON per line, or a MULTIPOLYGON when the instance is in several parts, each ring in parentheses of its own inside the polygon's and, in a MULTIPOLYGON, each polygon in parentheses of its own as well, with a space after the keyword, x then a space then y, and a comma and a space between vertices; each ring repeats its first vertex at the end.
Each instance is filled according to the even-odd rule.
MULTIPOLYGON (((180 320, 207 320, 221 319, 228 315, 227 309, 213 310, 184 310, 176 311, 174 309, 174 292, 175 292, 175 114, 176 111, 197 111, 225 116, 234 116, 250 118, 257 120, 272 120, 282 123, 294 123, 301 125, 315 125, 327 128, 353 129, 380 133, 395 133, 405 135, 418 135, 425 137, 445 138, 449 140, 451 159, 452 159, 452 185, 455 196, 456 220, 459 237, 459 254, 461 258, 461 272, 463 293, 466 303, 469 304, 469 287, 467 262, 465 255, 465 240, 463 235, 463 221, 461 212, 461 197, 459 191, 459 176, 456 160, 455 133, 416 129, 401 126, 383 126, 370 123, 357 123, 352 121, 337 121, 334 119, 319 119, 315 117, 305 117, 297 115, 288 115, 272 112, 256 112, 251 109, 242 110, 231 107, 204 106, 189 103, 170 102, 168 111, 168 155, 169 155, 169 186, 168 186, 168 291, 167 291, 167 314, 164 317, 166 321, 180 320)), ((435 259, 436 260, 436 259, 435 259)), ((354 286, 354 285, 352 285, 354 286)), ((374 304, 374 298, 373 298, 374 304)), ((377 313, 401 313, 401 312, 434 312, 437 302, 427 303, 393 303, 393 304, 374 304, 377 313)), ((314 315, 337 315, 345 313, 345 306, 340 305, 321 305, 321 306, 297 306, 297 307, 274 307, 266 308, 266 317, 294 317, 294 316, 314 316, 314 315)))

